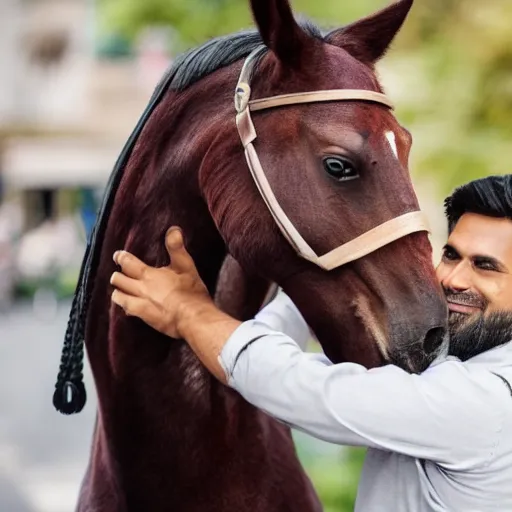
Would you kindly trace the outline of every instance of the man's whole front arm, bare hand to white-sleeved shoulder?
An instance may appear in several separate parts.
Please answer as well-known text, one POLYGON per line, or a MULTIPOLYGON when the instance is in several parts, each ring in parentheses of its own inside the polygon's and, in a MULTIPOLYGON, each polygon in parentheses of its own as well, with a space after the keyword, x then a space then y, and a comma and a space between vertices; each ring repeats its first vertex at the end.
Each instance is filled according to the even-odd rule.
POLYGON ((112 300, 160 332, 186 339, 219 380, 255 406, 333 443, 455 469, 490 457, 502 412, 461 364, 439 364, 422 375, 392 365, 374 370, 332 365, 261 322, 241 324, 219 311, 180 232, 170 231, 166 244, 172 263, 160 269, 116 253, 122 273, 112 276, 112 300))

